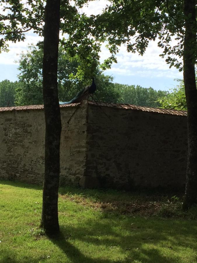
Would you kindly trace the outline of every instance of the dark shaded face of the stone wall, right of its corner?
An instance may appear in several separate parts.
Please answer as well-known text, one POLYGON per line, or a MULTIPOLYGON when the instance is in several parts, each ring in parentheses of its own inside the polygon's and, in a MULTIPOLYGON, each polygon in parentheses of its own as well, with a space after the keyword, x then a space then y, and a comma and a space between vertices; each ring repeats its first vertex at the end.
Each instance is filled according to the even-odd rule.
POLYGON ((102 109, 89 106, 86 176, 101 187, 184 189, 185 116, 102 109))

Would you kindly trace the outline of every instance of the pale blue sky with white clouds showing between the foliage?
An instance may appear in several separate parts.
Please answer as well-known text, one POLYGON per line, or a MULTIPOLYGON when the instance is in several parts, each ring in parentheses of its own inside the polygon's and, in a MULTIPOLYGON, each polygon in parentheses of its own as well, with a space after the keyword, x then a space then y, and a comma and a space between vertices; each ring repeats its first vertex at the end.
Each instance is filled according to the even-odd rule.
MULTIPOLYGON (((107 1, 97 0, 90 2, 79 11, 85 12, 88 15, 94 13, 98 14, 106 5, 107 1), (95 3, 96 2, 96 3, 95 3)), ((9 79, 15 81, 18 79, 18 59, 21 52, 26 52, 28 44, 36 44, 41 37, 33 34, 31 31, 27 32, 25 41, 11 43, 9 42, 8 53, 0 53, 0 81, 9 79)), ((111 69, 104 72, 106 75, 114 77, 114 82, 129 85, 140 85, 145 88, 152 87, 156 90, 170 90, 177 85, 175 79, 182 79, 183 73, 176 68, 169 68, 165 59, 161 58, 161 48, 157 46, 157 42, 151 41, 143 56, 137 53, 128 53, 126 47, 122 45, 117 54, 117 62, 113 63, 111 69)), ((108 58, 109 51, 102 45, 100 53, 100 61, 108 58)))

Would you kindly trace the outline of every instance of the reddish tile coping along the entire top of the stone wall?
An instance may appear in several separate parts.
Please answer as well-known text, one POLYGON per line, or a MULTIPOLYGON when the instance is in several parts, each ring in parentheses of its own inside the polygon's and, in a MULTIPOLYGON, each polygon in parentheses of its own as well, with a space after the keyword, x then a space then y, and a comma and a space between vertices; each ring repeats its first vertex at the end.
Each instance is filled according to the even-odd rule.
MULTIPOLYGON (((74 107, 79 105, 78 103, 70 103, 70 104, 63 104, 60 105, 60 108, 64 107, 74 107)), ((151 107, 142 107, 142 106, 136 106, 132 104, 118 104, 118 103, 107 103, 107 102, 94 102, 89 101, 90 105, 94 106, 104 106, 104 107, 111 107, 111 108, 117 108, 117 109, 126 109, 126 110, 141 110, 141 111, 147 111, 147 112, 155 112, 155 113, 162 113, 162 114, 170 114, 170 115, 177 115, 177 116, 187 116, 187 112, 184 110, 167 110, 167 109, 161 109, 161 108, 151 108, 151 107)), ((2 107, 0 108, 0 112, 4 111, 15 111, 15 110, 41 110, 43 109, 43 105, 28 105, 28 106, 15 106, 15 107, 2 107)))

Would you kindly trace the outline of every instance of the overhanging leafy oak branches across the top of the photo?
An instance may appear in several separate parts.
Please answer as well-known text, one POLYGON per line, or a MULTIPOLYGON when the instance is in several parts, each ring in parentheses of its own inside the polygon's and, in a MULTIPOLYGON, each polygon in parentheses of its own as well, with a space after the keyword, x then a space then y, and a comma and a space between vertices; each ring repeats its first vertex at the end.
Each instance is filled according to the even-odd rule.
MULTIPOLYGON (((61 2, 60 29, 67 38, 63 37, 60 41, 69 56, 80 61, 77 78, 84 74, 85 78, 94 75, 104 41, 107 41, 111 55, 104 61, 103 69, 116 62, 116 53, 122 43, 129 52, 143 55, 149 41, 158 38, 158 46, 163 50, 161 56, 170 67, 182 70, 185 17, 183 4, 179 0, 114 0, 99 15, 80 14, 79 9, 88 2, 76 0, 74 5, 72 1, 61 2)), ((1 1, 4 12, 0 15, 3 36, 0 50, 7 49, 8 41, 24 40, 25 32, 30 29, 42 34, 44 5, 44 0, 27 0, 26 3, 19 0, 1 1)), ((196 45, 192 52, 196 57, 196 45)))

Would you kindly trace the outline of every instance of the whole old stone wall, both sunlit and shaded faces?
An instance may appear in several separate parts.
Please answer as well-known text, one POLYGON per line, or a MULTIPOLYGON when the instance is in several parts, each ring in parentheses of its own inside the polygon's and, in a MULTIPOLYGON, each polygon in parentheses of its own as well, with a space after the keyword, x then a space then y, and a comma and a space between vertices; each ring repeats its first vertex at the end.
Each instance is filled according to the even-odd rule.
MULTIPOLYGON (((185 116, 89 105, 61 107, 60 184, 184 189, 185 116), (107 117, 108 116, 108 117, 107 117)), ((0 179, 42 184, 43 109, 0 112, 0 179)))

